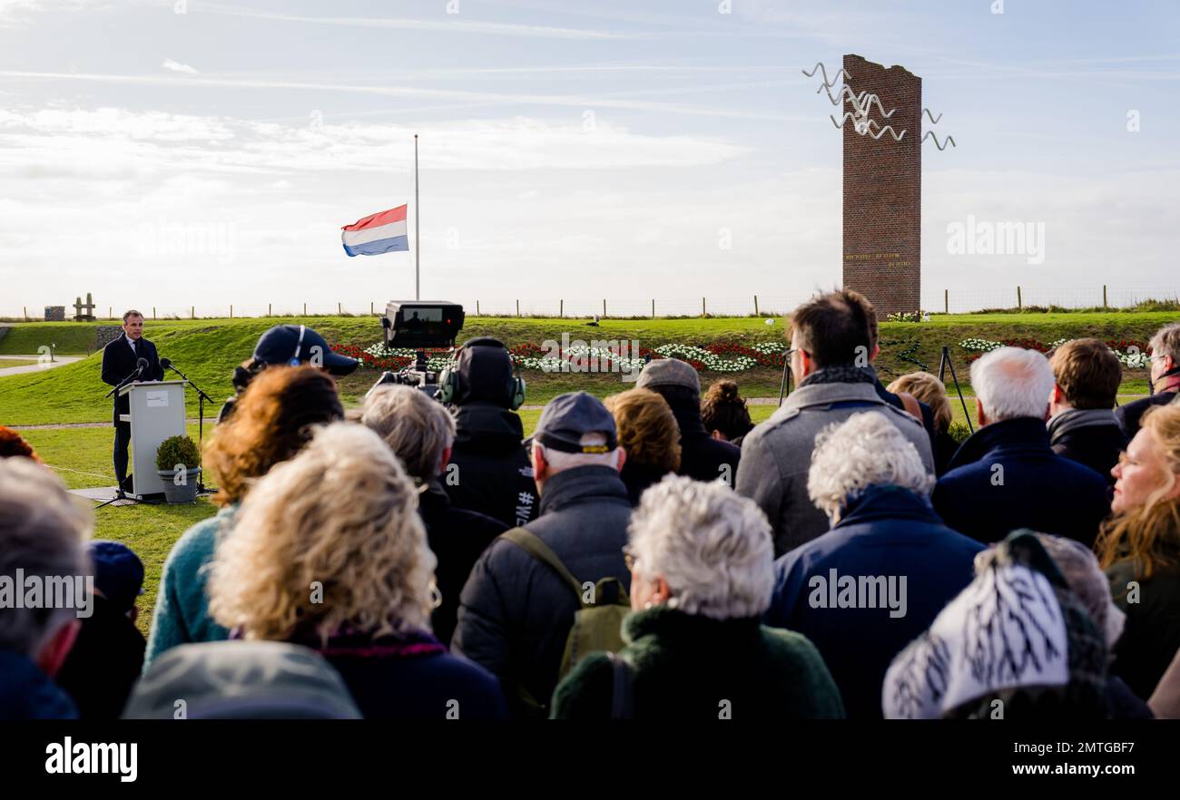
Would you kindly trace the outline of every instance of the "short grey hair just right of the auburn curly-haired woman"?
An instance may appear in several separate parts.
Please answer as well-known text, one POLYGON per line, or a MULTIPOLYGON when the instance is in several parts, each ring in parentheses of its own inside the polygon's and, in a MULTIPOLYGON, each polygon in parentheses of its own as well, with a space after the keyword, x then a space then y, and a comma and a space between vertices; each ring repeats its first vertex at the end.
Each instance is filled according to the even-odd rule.
POLYGON ((439 474, 442 451, 454 444, 454 418, 420 389, 379 386, 365 398, 361 422, 376 433, 419 480, 439 474))

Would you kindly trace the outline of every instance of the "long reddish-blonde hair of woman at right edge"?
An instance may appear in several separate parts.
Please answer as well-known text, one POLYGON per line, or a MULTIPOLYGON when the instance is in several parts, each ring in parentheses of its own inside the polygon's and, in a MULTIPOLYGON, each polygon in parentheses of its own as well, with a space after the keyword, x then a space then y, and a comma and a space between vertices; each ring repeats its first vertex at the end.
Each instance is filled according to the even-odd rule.
POLYGON ((1129 559, 1135 575, 1149 578, 1166 569, 1180 555, 1180 499, 1165 499, 1180 480, 1180 406, 1171 404, 1148 408, 1140 428, 1149 431, 1163 448, 1165 483, 1139 509, 1113 514, 1102 525, 1094 550, 1102 568, 1129 559))

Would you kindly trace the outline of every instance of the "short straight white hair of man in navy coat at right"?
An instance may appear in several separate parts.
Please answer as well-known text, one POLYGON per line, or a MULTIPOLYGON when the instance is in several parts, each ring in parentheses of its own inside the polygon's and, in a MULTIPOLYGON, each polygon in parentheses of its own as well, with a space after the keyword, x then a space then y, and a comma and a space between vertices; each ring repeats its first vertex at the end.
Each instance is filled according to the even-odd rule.
POLYGON ((1054 387, 1053 368, 1036 350, 997 347, 971 365, 971 386, 991 422, 1044 419, 1054 387))

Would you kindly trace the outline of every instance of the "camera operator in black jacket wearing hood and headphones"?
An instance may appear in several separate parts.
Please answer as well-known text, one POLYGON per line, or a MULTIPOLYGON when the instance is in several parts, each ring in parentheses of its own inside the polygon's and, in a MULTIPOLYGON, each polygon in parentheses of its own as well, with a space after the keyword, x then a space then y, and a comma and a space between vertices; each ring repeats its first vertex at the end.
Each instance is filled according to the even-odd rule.
POLYGON ((513 375, 503 342, 487 336, 466 342, 440 392, 454 407, 457 428, 442 476, 451 503, 510 527, 536 518, 537 485, 516 413, 524 401, 524 381, 513 375))

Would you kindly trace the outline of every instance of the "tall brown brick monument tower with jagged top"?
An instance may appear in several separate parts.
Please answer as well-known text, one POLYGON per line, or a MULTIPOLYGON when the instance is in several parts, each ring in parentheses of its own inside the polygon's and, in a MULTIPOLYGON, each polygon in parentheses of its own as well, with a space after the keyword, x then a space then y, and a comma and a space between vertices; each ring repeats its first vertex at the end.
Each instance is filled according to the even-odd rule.
MULTIPOLYGON (((922 78, 851 54, 844 70, 853 94, 880 98, 864 135, 844 122, 844 287, 867 296, 884 320, 922 307, 922 78), (897 111, 885 118, 881 107, 897 111), (894 133, 883 132, 886 125, 894 133)), ((845 99, 840 114, 850 111, 845 99)))

